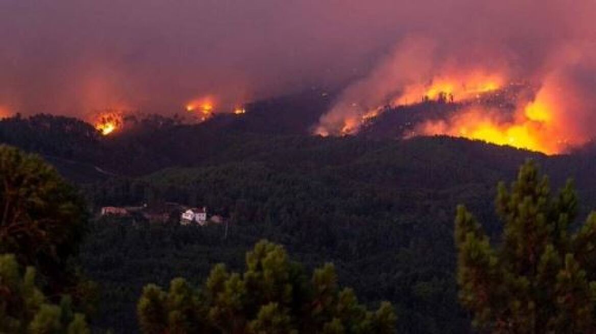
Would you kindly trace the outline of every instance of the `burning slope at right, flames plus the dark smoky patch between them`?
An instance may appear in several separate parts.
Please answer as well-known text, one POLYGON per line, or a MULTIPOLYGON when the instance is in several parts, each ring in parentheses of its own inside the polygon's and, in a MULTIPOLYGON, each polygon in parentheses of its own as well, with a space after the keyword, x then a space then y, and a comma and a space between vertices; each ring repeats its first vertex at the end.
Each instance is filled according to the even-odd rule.
POLYGON ((439 81, 426 89, 406 87, 407 93, 398 97, 395 104, 365 112, 360 118, 347 118, 342 134, 357 133, 375 122, 378 115, 398 106, 420 105, 424 108, 438 103, 452 104, 455 111, 427 115, 423 121, 413 124, 405 137, 448 135, 547 154, 565 152, 569 147, 585 143, 583 137, 567 133, 557 122, 563 109, 555 100, 552 87, 543 86, 533 92, 529 86, 502 86, 496 83, 498 81, 455 82, 439 81), (520 89, 523 94, 519 94, 520 89))

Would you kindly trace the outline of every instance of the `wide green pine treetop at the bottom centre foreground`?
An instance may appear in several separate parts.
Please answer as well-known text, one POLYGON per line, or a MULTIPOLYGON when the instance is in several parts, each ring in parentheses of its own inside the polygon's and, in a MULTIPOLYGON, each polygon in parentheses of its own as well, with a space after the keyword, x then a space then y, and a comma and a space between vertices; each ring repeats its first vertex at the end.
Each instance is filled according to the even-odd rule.
POLYGON ((147 285, 137 306, 142 332, 393 333, 389 303, 368 311, 352 289, 339 289, 332 264, 308 279, 281 245, 258 242, 246 272, 213 267, 202 289, 176 278, 169 291, 147 285))

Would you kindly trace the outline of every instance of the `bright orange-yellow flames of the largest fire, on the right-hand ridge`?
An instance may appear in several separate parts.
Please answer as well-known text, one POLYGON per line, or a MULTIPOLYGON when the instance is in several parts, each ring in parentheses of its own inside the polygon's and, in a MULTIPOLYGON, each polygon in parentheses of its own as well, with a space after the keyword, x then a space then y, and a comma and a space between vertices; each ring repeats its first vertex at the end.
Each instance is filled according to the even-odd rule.
MULTIPOLYGON (((438 78, 433 80, 430 86, 415 84, 406 87, 403 93, 394 99, 391 106, 412 105, 429 100, 442 100, 447 103, 462 102, 477 99, 485 93, 498 92, 504 86, 505 81, 498 75, 474 77, 471 81, 438 78)), ((353 105, 353 107, 358 106, 353 105)), ((414 127, 413 136, 464 137, 550 155, 562 153, 569 149, 573 142, 568 138, 566 131, 557 124, 557 115, 561 114, 559 109, 548 87, 542 87, 536 93, 534 100, 516 101, 513 120, 504 120, 498 111, 475 105, 457 111, 447 119, 423 121, 414 127)), ((383 111, 382 107, 375 108, 359 116, 344 118, 341 134, 358 133, 363 124, 383 111)), ((328 136, 329 131, 320 127, 316 134, 328 136)))

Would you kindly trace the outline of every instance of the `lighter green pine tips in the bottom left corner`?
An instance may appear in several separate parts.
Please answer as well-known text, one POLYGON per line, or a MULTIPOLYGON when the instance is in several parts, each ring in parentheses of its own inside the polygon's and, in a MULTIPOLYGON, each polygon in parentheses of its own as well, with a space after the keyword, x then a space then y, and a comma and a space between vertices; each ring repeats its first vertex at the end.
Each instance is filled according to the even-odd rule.
POLYGON ((0 333, 88 334, 85 316, 73 313, 70 297, 48 302, 35 284, 35 269, 24 273, 13 254, 0 255, 0 333))

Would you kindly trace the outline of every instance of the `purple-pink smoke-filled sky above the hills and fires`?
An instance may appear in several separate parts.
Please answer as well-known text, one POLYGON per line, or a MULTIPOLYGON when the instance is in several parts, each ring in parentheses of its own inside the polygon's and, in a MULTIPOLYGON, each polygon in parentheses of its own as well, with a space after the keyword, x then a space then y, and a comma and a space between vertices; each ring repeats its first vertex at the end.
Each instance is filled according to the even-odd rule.
MULTIPOLYGON (((0 108, 175 112, 333 86, 411 36, 433 57, 535 75, 593 52, 591 0, 1 0, 0 108)), ((399 74, 398 74, 399 75, 399 74)))

